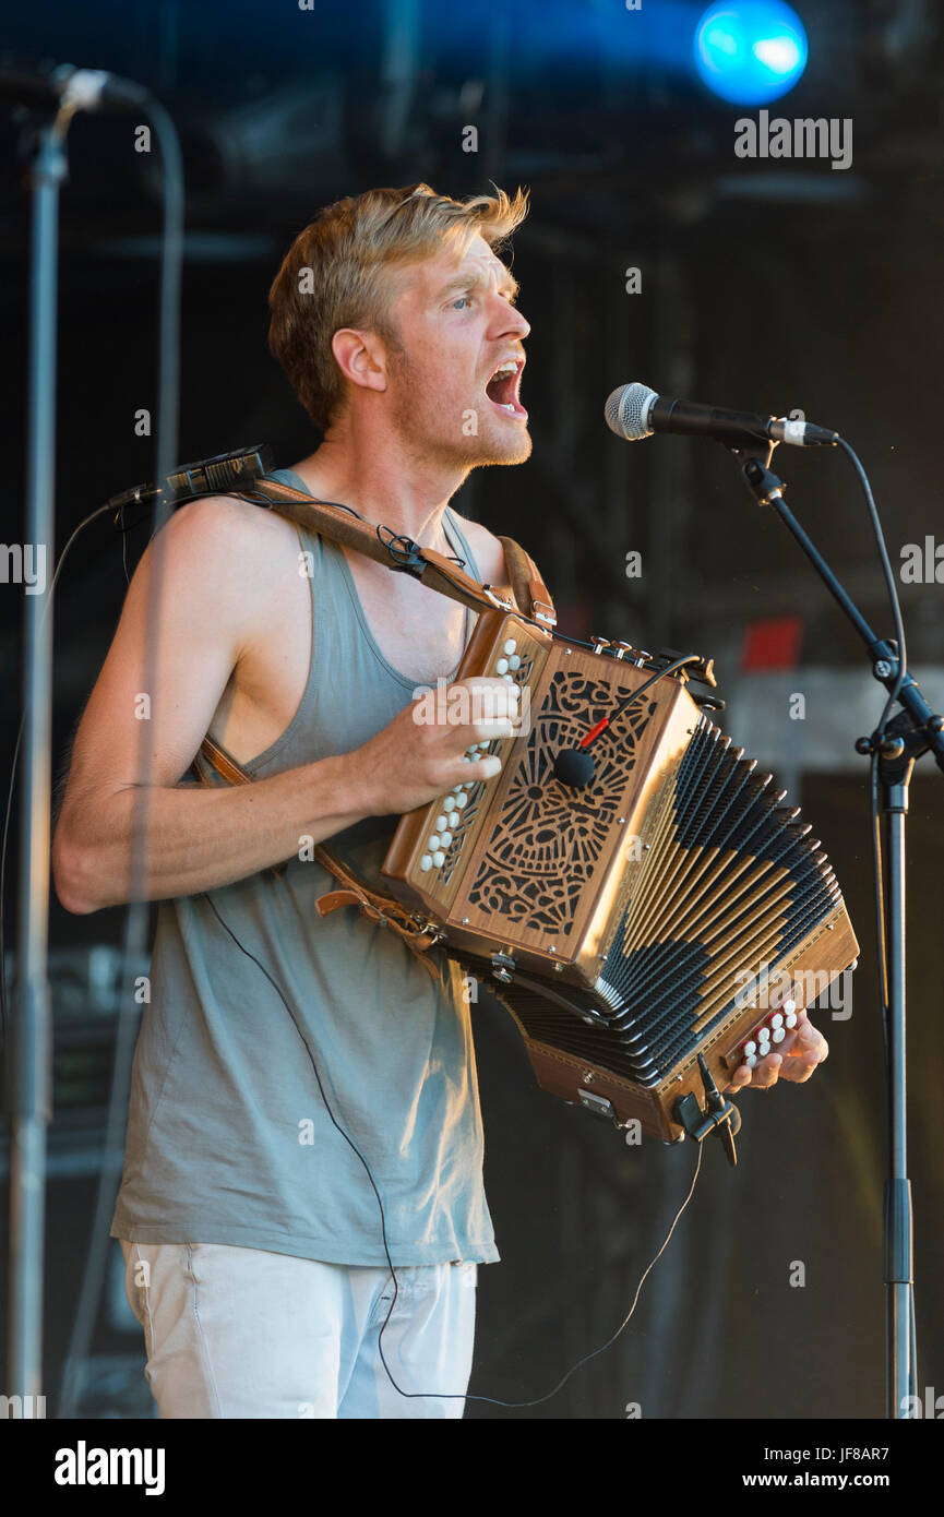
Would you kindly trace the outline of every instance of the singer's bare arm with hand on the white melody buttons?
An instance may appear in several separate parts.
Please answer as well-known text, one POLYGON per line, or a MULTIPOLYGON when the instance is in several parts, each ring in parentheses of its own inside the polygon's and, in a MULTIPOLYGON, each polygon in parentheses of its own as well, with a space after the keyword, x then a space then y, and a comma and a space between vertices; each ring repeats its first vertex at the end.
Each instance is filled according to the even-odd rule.
MULTIPOLYGON (((489 772, 461 752, 492 728, 417 727, 410 707, 354 754, 253 784, 181 787, 229 675, 252 636, 258 596, 273 593, 246 507, 208 499, 164 528, 159 637, 146 689, 152 542, 132 578, 118 630, 76 733, 53 837, 56 894, 88 913, 132 898, 165 900, 231 884, 322 842, 363 816, 411 810, 443 786, 489 772), (143 710, 150 696, 146 795, 137 783, 143 710), (132 892, 132 836, 146 801, 141 887, 132 892)), ((140 850, 141 851, 141 850, 140 850)))

